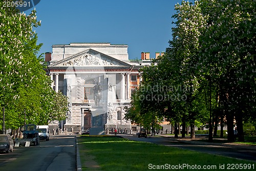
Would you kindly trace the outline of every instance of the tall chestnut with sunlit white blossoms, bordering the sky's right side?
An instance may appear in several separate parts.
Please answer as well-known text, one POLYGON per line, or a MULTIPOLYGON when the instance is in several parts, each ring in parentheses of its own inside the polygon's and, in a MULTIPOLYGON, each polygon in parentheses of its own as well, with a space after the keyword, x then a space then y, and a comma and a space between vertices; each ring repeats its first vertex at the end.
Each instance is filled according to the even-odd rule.
MULTIPOLYGON (((191 138, 195 138, 195 120, 197 119, 198 99, 197 90, 199 89, 199 80, 202 75, 198 74, 199 67, 199 36, 206 25, 206 18, 201 14, 201 8, 198 1, 189 3, 182 1, 181 5, 175 5, 173 22, 176 26, 172 29, 173 39, 169 41, 169 48, 166 52, 173 56, 175 62, 172 66, 174 69, 173 76, 176 78, 175 86, 179 85, 179 90, 186 99, 177 101, 183 106, 182 122, 188 121, 191 127, 191 138)), ((183 123, 183 127, 186 124, 183 123)), ((183 128, 184 129, 184 128, 183 128)), ((184 132, 184 130, 183 130, 184 132)), ((184 135, 183 135, 184 137, 184 135)))

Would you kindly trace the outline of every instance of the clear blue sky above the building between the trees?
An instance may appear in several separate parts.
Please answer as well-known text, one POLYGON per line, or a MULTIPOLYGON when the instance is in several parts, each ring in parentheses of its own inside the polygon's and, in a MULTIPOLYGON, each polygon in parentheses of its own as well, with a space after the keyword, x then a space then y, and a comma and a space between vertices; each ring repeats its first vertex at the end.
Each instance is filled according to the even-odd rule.
MULTIPOLYGON (((141 52, 163 52, 172 39, 174 5, 181 0, 41 0, 36 28, 40 53, 71 42, 110 42, 128 45, 130 59, 141 52)), ((25 11, 29 14, 31 11, 25 11)))

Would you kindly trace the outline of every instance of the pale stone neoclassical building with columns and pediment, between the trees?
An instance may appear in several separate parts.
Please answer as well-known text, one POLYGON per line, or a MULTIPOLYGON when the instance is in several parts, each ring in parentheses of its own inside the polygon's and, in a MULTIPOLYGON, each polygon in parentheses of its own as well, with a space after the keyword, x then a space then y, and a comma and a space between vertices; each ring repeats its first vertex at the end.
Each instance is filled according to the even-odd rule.
POLYGON ((53 122, 51 127, 91 128, 95 134, 106 128, 132 128, 123 119, 123 108, 130 104, 131 94, 139 85, 138 70, 151 64, 149 53, 129 60, 127 45, 71 43, 53 45, 45 59, 52 88, 69 98, 66 121, 53 122))

